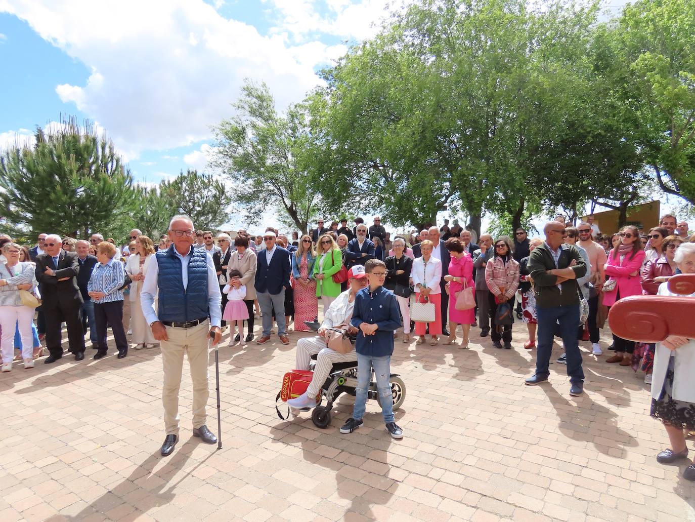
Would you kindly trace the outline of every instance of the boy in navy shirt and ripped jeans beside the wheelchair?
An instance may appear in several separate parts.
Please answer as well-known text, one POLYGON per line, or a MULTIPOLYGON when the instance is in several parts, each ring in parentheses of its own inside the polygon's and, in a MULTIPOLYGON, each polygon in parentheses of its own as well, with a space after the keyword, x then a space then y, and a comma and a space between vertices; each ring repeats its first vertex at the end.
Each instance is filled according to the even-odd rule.
POLYGON ((384 288, 386 264, 383 261, 368 260, 364 264, 364 271, 367 273, 369 286, 357 292, 350 321, 352 326, 359 329, 355 343, 357 390, 352 418, 341 427, 341 433, 352 433, 362 425, 374 368, 386 429, 393 438, 403 438, 403 430, 393 422, 393 395, 389 383, 393 332, 401 326, 398 301, 390 290, 384 288))

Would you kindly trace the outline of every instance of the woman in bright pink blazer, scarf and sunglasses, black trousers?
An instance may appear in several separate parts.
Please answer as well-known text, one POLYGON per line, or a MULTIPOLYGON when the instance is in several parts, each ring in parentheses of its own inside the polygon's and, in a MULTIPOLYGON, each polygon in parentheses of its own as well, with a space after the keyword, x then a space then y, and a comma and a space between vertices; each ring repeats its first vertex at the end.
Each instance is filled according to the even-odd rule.
MULTIPOLYGON (((623 297, 642 293, 640 271, 644 263, 644 250, 639 242, 637 227, 626 226, 620 231, 620 243, 612 249, 604 265, 609 281, 615 280, 615 288, 603 293, 603 304, 610 307, 623 297)), ((629 366, 635 341, 628 341, 613 334, 615 355, 607 358, 607 363, 620 363, 629 366)))

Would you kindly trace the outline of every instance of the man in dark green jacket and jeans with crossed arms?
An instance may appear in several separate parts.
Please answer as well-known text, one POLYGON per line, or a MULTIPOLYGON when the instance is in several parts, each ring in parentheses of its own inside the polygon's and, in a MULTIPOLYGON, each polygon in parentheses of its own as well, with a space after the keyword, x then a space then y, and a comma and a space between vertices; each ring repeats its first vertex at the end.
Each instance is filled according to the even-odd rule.
POLYGON ((532 251, 528 271, 533 280, 538 318, 536 373, 526 379, 528 385, 548 380, 548 363, 553 351, 555 327, 559 323, 567 354, 569 393, 575 397, 584 391, 582 354, 579 351, 580 291, 577 278, 587 273, 587 263, 574 245, 564 244, 564 223, 550 221, 543 228, 546 241, 532 251))

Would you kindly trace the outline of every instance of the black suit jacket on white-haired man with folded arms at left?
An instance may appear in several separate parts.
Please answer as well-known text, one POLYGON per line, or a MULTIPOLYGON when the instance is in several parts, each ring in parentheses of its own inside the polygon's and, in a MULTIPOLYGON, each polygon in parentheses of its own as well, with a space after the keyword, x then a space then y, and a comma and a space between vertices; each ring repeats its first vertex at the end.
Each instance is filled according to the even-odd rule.
POLYGON ((77 286, 77 274, 80 264, 77 254, 74 252, 60 251, 58 266, 53 264, 53 258, 48 254, 41 254, 36 258, 36 280, 39 283, 43 310, 50 308, 74 308, 82 306, 82 294, 77 286), (44 274, 46 268, 56 271, 55 276, 44 274), (70 278, 59 281, 60 278, 70 278))

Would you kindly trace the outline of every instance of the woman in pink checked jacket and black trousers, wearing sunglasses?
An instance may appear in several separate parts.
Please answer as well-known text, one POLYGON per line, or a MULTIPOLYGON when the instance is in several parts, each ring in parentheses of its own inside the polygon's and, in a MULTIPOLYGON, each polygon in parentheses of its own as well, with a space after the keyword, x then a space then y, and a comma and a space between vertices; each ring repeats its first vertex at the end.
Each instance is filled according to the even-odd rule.
MULTIPOLYGON (((502 303, 509 304, 509 310, 514 306, 514 294, 519 285, 519 264, 514 260, 512 241, 503 236, 495 242, 493 258, 485 265, 485 283, 489 290, 490 317, 497 313, 497 307, 502 303)), ((509 314, 514 322, 514 315, 509 314)), ((490 334, 492 344, 501 348, 505 342, 505 348, 512 349, 512 325, 495 325, 490 334)))

